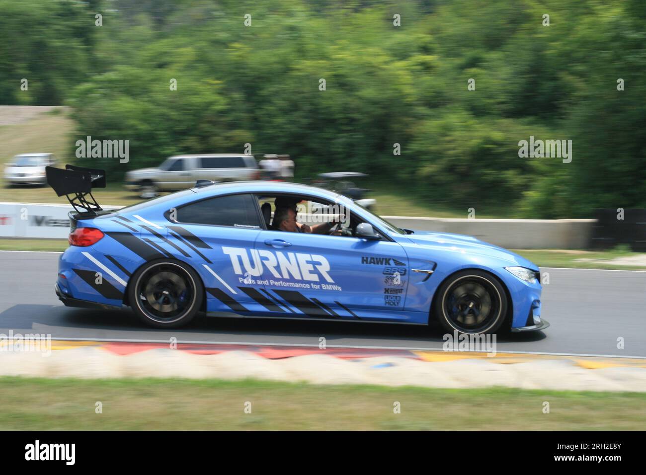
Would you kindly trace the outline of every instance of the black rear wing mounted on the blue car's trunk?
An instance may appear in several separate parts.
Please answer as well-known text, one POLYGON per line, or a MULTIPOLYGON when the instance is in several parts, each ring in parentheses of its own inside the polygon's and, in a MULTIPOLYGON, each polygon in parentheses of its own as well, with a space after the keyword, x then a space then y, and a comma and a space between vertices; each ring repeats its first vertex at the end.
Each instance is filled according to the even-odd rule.
POLYGON ((67 200, 79 217, 96 216, 103 211, 92 196, 92 188, 105 188, 105 170, 65 165, 65 170, 45 167, 47 184, 67 200))

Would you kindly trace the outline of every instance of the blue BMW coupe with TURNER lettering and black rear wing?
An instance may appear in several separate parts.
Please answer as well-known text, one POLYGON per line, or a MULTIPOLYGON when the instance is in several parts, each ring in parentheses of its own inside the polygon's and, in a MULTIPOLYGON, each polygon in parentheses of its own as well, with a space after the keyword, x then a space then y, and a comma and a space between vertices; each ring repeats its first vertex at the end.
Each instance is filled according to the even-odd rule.
POLYGON ((543 330, 539 269, 473 237, 393 226, 346 196, 284 182, 197 182, 118 211, 92 188, 105 172, 47 168, 67 195, 67 306, 130 306, 176 328, 212 316, 438 321, 448 332, 543 330), (297 214, 298 213, 298 214, 297 214))

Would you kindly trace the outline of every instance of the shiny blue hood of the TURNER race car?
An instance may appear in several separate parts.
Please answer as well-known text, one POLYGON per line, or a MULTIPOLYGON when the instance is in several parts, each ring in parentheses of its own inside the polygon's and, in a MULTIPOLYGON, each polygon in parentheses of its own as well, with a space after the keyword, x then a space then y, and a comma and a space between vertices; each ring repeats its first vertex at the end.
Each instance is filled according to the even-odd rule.
POLYGON ((538 266, 531 260, 517 255, 505 248, 494 246, 488 242, 481 241, 473 236, 453 233, 435 233, 433 231, 415 231, 406 235, 415 244, 432 249, 453 249, 457 248, 469 254, 479 254, 495 259, 506 260, 510 265, 525 267, 532 270, 539 270, 538 266))

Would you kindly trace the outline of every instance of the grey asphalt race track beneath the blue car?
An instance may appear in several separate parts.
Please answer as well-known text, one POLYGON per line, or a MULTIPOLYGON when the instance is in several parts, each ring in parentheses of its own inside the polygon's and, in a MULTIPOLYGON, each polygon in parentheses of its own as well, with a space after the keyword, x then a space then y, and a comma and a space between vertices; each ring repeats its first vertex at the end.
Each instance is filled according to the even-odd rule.
MULTIPOLYGON (((66 308, 54 294, 59 253, 0 251, 0 333, 53 338, 441 349, 439 327, 198 317, 179 330, 144 328, 130 311, 66 308)), ((497 338, 497 352, 646 357, 646 271, 545 268, 545 332, 497 338), (624 349, 618 349, 623 337, 624 349)))

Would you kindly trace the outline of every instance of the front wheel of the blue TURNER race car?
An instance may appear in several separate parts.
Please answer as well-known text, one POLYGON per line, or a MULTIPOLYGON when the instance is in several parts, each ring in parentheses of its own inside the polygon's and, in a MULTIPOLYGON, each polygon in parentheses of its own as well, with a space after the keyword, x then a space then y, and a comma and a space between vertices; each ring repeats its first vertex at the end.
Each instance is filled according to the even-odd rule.
POLYGON ((448 332, 494 333, 507 315, 505 289, 489 273, 460 271, 437 290, 433 313, 448 332))

